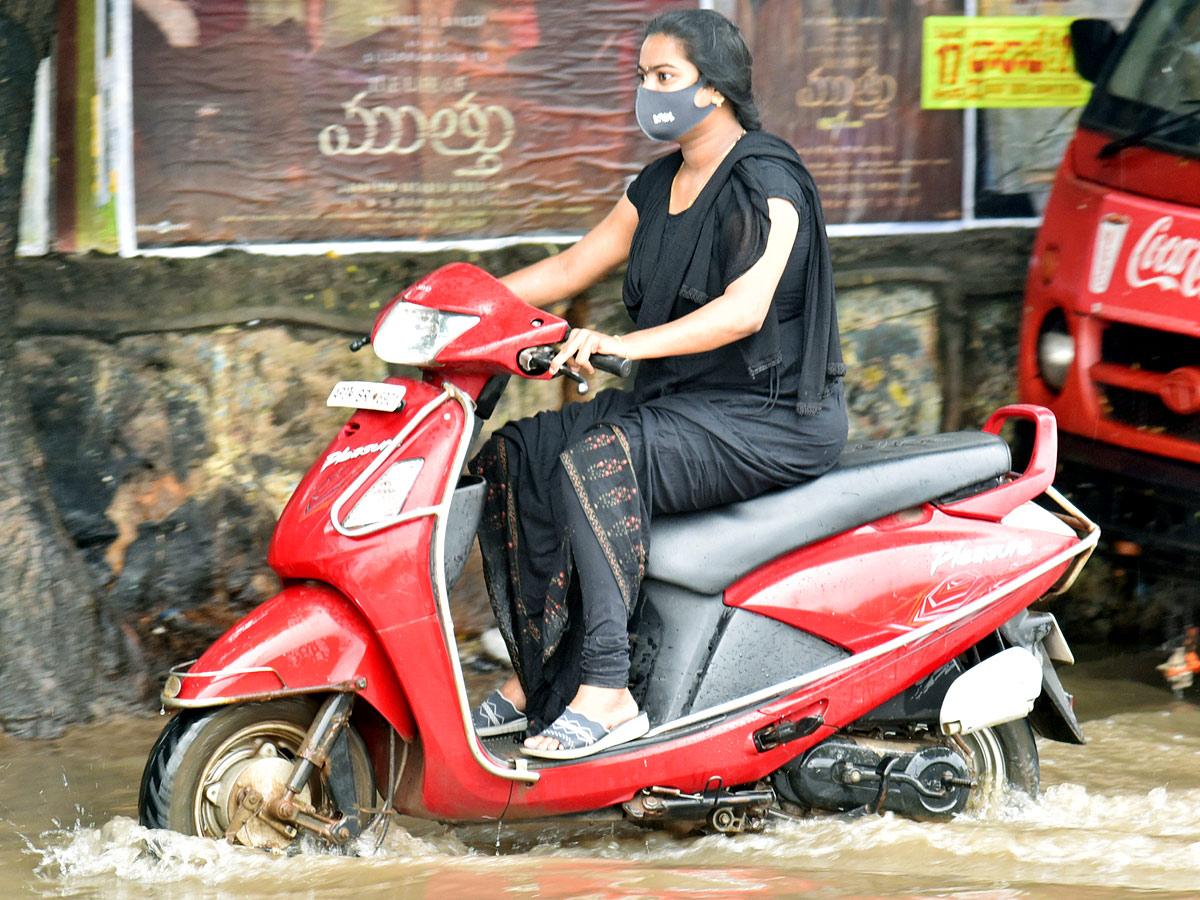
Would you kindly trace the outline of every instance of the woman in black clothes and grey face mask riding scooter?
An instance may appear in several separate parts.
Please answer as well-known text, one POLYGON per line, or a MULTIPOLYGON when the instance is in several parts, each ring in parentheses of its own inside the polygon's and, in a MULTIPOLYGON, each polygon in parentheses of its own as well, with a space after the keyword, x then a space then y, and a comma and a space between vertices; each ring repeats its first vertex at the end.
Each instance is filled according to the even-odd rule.
POLYGON ((535 306, 628 263, 624 336, 576 329, 551 364, 641 360, 632 391, 500 428, 484 570, 516 674, 474 714, 481 736, 575 758, 641 737, 628 617, 654 516, 743 500, 829 469, 846 440, 833 275, 816 186, 761 130, 750 54, 719 13, 646 29, 637 120, 679 149, 647 166, 564 252, 506 276, 535 306))

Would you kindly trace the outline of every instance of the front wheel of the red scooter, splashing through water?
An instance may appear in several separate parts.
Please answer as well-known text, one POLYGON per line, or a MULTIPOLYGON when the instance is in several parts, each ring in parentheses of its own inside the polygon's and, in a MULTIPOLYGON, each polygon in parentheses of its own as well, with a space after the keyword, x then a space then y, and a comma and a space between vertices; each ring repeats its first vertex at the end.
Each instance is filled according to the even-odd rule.
MULTIPOLYGON (((264 810, 283 797, 316 714, 316 701, 304 697, 184 710, 163 728, 146 760, 138 797, 140 823, 206 838, 223 838, 236 826, 233 830, 242 844, 287 847, 299 836, 294 827, 266 811, 247 815, 241 808, 247 796, 260 797, 264 810)), ((376 797, 371 760, 352 725, 344 733, 358 805, 368 808, 376 797)), ((338 817, 328 774, 320 769, 295 800, 319 817, 338 817)))

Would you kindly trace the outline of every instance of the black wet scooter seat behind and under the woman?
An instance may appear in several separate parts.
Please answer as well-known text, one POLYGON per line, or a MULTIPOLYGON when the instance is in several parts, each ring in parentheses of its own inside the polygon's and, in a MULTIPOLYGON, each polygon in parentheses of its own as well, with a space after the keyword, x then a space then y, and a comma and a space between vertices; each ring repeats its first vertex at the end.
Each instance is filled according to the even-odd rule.
POLYGON ((791 550, 988 482, 1010 466, 1008 444, 982 431, 851 444, 811 481, 655 518, 646 577, 720 594, 791 550))

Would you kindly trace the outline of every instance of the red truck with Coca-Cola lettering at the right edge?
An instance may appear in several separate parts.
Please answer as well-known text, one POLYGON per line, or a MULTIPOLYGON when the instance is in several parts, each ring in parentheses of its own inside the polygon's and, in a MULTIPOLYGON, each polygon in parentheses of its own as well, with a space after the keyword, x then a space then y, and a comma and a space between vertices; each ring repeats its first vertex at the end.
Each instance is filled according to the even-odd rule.
POLYGON ((1056 484, 1144 571, 1200 575, 1200 4, 1072 25, 1094 84, 1026 282, 1022 402, 1058 419, 1056 484))

